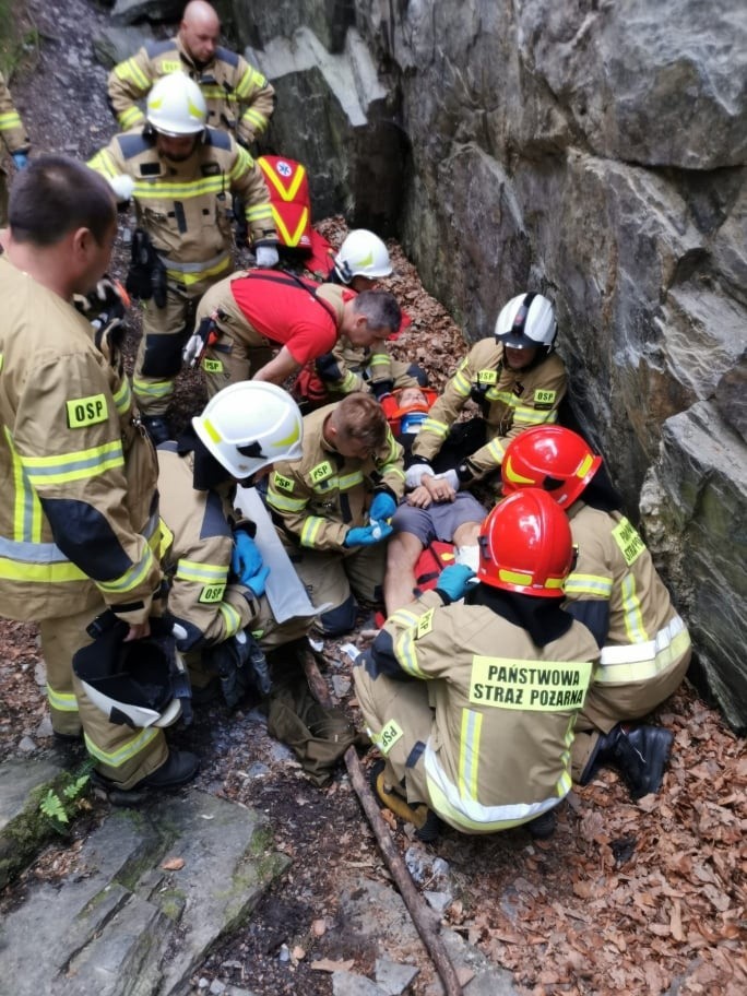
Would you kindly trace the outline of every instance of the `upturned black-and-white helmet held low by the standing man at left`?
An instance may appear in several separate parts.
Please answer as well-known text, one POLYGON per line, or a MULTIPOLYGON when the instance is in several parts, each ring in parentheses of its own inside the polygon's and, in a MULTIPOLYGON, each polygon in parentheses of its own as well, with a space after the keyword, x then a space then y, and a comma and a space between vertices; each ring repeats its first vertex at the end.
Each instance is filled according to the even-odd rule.
POLYGON ((73 671, 87 698, 110 723, 131 727, 170 726, 185 712, 191 691, 171 624, 151 619, 151 636, 124 642, 129 626, 104 613, 106 628, 73 655, 73 671))

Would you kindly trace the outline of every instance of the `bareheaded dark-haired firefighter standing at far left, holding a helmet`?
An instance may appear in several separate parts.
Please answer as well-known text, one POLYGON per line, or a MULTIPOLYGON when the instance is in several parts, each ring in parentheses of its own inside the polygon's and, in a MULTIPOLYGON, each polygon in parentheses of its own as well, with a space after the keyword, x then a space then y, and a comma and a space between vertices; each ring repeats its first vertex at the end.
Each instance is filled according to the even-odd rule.
POLYGON ((127 641, 146 638, 161 568, 156 461, 121 361, 72 306, 106 270, 117 232, 109 186, 62 156, 13 183, 0 258, 2 614, 39 625, 52 728, 85 745, 122 788, 188 781, 197 758, 157 726, 115 725, 88 700, 72 659, 107 606, 127 641))

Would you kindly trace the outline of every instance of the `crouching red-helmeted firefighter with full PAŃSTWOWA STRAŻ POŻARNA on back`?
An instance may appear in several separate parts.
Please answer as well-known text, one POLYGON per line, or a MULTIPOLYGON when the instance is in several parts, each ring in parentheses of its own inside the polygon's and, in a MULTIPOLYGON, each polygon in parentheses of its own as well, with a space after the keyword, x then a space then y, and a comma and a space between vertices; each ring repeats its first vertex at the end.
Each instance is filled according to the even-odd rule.
POLYGON ((519 491, 483 524, 478 583, 466 565, 444 568, 357 659, 356 696, 383 755, 372 785, 422 840, 439 818, 465 833, 553 833, 600 655, 560 607, 572 558, 561 509, 519 491))

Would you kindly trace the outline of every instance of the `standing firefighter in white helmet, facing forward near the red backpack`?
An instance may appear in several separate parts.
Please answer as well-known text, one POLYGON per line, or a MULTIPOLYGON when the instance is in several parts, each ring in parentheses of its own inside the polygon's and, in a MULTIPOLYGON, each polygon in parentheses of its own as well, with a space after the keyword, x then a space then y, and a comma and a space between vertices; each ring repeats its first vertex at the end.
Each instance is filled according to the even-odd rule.
POLYGON ((262 174, 230 135, 205 128, 197 83, 180 72, 158 80, 147 121, 115 135, 90 165, 135 204, 128 289, 144 311, 132 386, 157 444, 171 435, 167 411, 197 303, 232 269, 232 192, 246 205, 258 263, 273 266, 277 249, 262 174))

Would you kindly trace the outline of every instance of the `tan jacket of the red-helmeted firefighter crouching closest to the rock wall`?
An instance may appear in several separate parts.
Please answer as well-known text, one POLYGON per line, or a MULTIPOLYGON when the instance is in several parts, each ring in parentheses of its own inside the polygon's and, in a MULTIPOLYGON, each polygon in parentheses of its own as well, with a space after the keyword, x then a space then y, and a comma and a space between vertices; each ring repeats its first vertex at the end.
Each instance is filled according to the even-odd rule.
POLYGON ((597 680, 642 683, 689 653, 690 637, 651 554, 621 512, 576 501, 568 511, 578 562, 566 580, 569 612, 602 647, 597 680))

